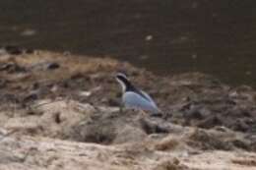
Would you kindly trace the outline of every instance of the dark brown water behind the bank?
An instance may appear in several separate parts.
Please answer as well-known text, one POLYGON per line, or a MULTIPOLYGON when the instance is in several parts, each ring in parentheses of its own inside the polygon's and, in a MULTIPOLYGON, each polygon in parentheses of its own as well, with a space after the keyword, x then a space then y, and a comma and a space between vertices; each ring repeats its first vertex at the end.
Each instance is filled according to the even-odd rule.
POLYGON ((0 44, 256 86, 255 0, 2 0, 0 44))

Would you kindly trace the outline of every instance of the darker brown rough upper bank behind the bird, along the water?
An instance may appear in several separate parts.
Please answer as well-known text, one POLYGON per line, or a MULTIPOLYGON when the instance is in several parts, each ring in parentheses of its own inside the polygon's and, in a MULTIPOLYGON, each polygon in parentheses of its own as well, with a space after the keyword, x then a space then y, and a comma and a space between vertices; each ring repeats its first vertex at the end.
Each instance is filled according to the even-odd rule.
POLYGON ((38 99, 74 99, 94 106, 119 106, 120 87, 114 74, 127 73, 132 82, 154 96, 167 121, 184 126, 256 131, 256 91, 230 87, 200 73, 157 77, 128 63, 64 53, 37 51, 0 57, 0 105, 30 107, 38 99))

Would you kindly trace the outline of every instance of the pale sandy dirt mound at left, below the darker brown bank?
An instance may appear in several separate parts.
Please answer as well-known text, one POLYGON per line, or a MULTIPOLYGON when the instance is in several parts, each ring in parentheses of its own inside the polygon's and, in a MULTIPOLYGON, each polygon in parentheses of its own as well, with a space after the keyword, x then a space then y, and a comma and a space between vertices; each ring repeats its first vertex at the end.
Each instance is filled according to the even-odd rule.
POLYGON ((66 133, 72 126, 94 113, 90 104, 74 100, 51 102, 42 100, 30 109, 1 111, 0 115, 5 115, 1 126, 23 135, 66 139, 66 133))

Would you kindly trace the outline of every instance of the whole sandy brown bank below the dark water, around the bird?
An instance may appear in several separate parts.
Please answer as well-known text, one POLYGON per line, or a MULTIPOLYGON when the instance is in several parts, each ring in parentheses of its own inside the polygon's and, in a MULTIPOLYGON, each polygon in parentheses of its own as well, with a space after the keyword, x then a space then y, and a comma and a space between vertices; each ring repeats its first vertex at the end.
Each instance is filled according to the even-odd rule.
POLYGON ((113 59, 0 50, 0 169, 256 169, 256 91, 113 59), (163 115, 120 112, 116 72, 163 115))

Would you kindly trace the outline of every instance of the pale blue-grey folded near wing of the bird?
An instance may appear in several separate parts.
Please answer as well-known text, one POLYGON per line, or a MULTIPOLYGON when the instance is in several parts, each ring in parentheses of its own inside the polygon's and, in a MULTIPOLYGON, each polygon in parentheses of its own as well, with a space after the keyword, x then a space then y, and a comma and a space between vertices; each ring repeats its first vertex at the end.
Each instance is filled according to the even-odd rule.
POLYGON ((124 93, 123 102, 126 107, 139 108, 143 110, 149 110, 152 112, 159 112, 159 109, 155 103, 148 101, 141 95, 132 91, 128 91, 124 93))

